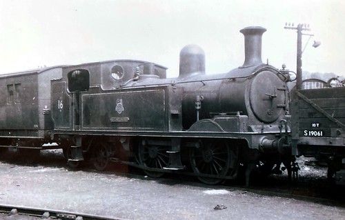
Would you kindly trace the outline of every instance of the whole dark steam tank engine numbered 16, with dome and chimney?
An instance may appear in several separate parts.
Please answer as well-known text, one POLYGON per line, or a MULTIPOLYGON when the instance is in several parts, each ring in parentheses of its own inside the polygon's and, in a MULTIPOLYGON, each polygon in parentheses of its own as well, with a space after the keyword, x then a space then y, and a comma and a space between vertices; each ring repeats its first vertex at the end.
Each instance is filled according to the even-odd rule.
POLYGON ((59 128, 66 117, 58 117, 63 111, 55 106, 59 101, 52 101, 57 128, 53 135, 74 139, 71 155, 79 156, 71 156, 70 161, 90 157, 99 169, 110 160, 127 163, 116 156, 124 149, 121 154, 131 157, 133 152, 137 166, 153 177, 191 168, 201 181, 213 184, 236 177, 242 163, 248 167, 248 179, 260 160, 270 172, 282 160, 290 162, 284 156, 290 155, 284 148, 290 132, 289 97, 284 74, 262 63, 264 31, 260 27, 241 30, 244 65, 224 74, 205 74, 204 52, 198 46, 181 50, 176 79, 157 74, 162 68, 153 63, 115 61, 99 67, 101 85, 91 86, 90 68, 70 66, 65 71, 70 78, 52 82, 52 92, 59 94, 60 103, 72 94, 70 108, 79 113, 70 113, 75 117, 70 126, 66 122, 66 127, 59 128), (132 69, 122 68, 126 65, 132 69), (119 73, 108 71, 111 66, 118 66, 119 73), (122 77, 128 77, 128 72, 134 77, 122 77), (120 75, 115 83, 103 80, 114 74, 120 75), (73 90, 72 81, 86 81, 85 88, 73 90), (55 83, 66 83, 68 89, 55 92, 55 83), (102 136, 103 146, 97 143, 97 135, 102 136), (94 153, 88 155, 92 149, 94 153))

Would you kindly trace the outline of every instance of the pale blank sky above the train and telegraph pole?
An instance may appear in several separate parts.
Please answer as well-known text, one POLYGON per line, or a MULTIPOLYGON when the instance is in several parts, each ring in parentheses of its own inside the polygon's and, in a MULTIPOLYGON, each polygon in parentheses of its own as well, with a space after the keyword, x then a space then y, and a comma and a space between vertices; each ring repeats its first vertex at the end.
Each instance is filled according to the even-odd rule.
POLYGON ((306 23, 303 65, 308 72, 345 76, 345 1, 342 0, 11 0, 0 1, 0 74, 41 66, 139 59, 177 77, 179 52, 197 44, 206 74, 244 63, 248 26, 267 29, 262 61, 296 70, 297 34, 306 23), (321 41, 313 48, 313 41, 321 41))

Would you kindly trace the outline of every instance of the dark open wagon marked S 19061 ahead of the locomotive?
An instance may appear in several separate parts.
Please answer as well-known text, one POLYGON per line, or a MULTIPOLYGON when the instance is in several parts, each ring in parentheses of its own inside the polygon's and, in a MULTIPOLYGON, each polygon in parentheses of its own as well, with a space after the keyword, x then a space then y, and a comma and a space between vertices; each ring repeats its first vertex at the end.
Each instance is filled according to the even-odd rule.
POLYGON ((321 85, 292 91, 292 152, 326 160, 328 178, 344 184, 345 87, 321 85))

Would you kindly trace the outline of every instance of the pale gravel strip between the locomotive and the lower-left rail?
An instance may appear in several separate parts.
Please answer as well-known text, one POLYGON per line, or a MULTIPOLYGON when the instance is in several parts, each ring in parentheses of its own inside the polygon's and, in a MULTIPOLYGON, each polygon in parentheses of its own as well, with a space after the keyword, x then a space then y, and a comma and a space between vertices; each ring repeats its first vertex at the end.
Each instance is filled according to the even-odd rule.
MULTIPOLYGON (((0 203, 121 219, 345 219, 344 204, 333 201, 269 196, 179 178, 71 171, 59 163, 62 159, 30 166, 0 162, 0 203)), ((308 163, 300 166, 301 174, 323 179, 321 171, 308 170, 308 163)))

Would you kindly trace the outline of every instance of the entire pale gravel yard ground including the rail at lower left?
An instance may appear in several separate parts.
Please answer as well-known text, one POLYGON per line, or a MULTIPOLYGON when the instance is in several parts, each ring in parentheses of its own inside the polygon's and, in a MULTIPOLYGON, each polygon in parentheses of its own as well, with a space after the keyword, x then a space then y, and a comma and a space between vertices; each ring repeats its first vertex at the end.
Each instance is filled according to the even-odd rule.
POLYGON ((326 180, 321 177, 289 182, 271 176, 250 187, 235 181, 207 186, 195 177, 167 174, 152 179, 139 170, 98 172, 91 164, 72 171, 55 152, 41 154, 32 165, 0 162, 0 203, 6 208, 0 208, 0 219, 264 220, 273 206, 272 214, 286 216, 280 219, 303 219, 310 212, 328 213, 329 219, 345 214, 344 188, 338 198, 331 197, 322 190, 326 180), (286 214, 288 210, 294 212, 286 214))

